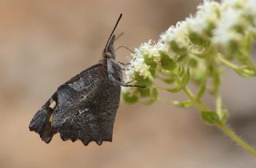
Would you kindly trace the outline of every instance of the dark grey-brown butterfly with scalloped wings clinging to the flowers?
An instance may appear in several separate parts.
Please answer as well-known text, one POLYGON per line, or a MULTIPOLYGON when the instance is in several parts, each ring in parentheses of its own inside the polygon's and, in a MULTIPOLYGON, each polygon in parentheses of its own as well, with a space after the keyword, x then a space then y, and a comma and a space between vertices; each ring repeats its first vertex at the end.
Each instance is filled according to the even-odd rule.
POLYGON ((74 76, 58 87, 30 122, 30 131, 37 132, 42 141, 50 143, 56 133, 62 140, 80 139, 87 146, 94 141, 112 142, 114 119, 118 110, 123 64, 115 60, 114 30, 122 18, 120 14, 98 64, 74 76))

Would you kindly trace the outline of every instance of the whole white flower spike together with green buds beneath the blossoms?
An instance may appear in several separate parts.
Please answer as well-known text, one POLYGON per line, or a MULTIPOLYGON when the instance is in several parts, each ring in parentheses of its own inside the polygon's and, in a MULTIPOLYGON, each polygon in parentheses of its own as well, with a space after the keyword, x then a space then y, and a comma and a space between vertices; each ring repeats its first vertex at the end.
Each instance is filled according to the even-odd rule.
POLYGON ((207 63, 205 58, 219 54, 236 59, 238 64, 254 69, 253 74, 256 74, 248 51, 255 38, 256 0, 223 0, 221 3, 205 0, 194 16, 170 26, 157 43, 150 40, 135 49, 125 79, 150 87, 158 72, 173 74, 186 67, 190 67, 192 78, 198 74, 193 71, 200 71, 203 76, 201 70, 207 63))

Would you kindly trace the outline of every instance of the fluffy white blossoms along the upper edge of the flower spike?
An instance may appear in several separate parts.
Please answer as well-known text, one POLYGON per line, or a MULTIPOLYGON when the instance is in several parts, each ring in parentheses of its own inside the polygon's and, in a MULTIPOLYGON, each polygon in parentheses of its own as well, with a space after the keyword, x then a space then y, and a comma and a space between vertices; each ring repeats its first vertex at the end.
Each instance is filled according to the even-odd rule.
POLYGON ((167 29, 166 33, 162 33, 157 44, 149 41, 135 49, 126 77, 129 76, 129 80, 134 79, 134 72, 139 72, 144 77, 150 75, 147 72, 150 64, 145 63, 145 56, 153 58, 156 64, 161 65, 160 50, 177 61, 182 52, 188 55, 186 52, 195 49, 194 45, 203 45, 207 40, 216 48, 229 47, 230 41, 242 41, 244 33, 252 29, 252 26, 255 29, 255 25, 256 0, 224 0, 221 4, 206 0, 198 6, 194 17, 186 18, 186 21, 180 21, 176 26, 167 29), (250 23, 248 16, 254 19, 254 23, 250 23))

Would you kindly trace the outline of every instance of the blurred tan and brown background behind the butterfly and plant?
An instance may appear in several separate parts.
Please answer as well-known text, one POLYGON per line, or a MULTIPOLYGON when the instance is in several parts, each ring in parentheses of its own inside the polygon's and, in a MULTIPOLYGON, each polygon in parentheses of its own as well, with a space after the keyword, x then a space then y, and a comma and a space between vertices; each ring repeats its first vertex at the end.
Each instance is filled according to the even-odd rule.
MULTIPOLYGON (((255 158, 217 128, 202 123, 195 108, 121 104, 113 143, 101 147, 63 142, 58 134, 46 144, 28 129, 34 113, 58 85, 99 61, 120 13, 124 15, 116 34, 125 34, 115 45, 134 49, 149 39, 157 41, 170 25, 194 14, 201 2, 2 0, 0 167, 256 167, 255 158)), ((118 61, 129 61, 126 49, 116 55, 118 61)), ((242 80, 230 71, 223 83, 230 127, 255 147, 256 80, 242 80)), ((214 105, 210 96, 206 102, 214 105)))

